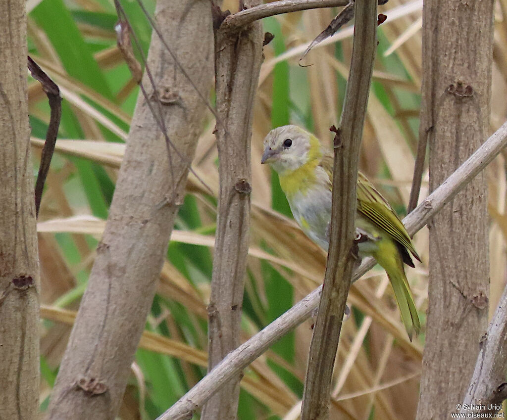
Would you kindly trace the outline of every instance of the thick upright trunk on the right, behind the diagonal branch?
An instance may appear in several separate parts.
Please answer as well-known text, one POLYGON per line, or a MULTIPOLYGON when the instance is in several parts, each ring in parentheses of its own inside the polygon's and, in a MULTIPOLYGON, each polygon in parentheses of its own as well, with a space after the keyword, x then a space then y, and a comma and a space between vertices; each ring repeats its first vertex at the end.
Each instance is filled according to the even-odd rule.
MULTIPOLYGON (((486 137, 493 1, 427 0, 419 136, 430 145, 430 189, 486 137)), ((449 418, 463 400, 486 332, 487 185, 479 174, 429 225, 429 306, 417 419, 449 418)))

